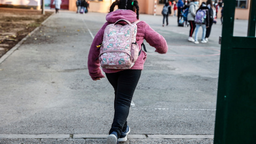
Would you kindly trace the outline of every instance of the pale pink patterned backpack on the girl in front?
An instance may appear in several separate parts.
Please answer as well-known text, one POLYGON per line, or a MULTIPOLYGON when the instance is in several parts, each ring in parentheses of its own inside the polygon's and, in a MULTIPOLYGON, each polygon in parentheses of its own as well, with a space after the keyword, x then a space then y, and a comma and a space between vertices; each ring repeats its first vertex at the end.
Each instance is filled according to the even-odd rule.
POLYGON ((137 23, 120 19, 105 28, 100 47, 100 65, 108 69, 130 69, 139 57, 139 46, 136 43, 137 23), (117 22, 125 21, 127 25, 117 22))

